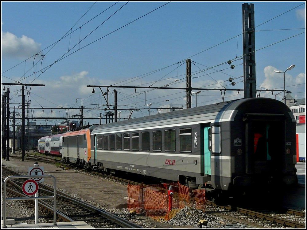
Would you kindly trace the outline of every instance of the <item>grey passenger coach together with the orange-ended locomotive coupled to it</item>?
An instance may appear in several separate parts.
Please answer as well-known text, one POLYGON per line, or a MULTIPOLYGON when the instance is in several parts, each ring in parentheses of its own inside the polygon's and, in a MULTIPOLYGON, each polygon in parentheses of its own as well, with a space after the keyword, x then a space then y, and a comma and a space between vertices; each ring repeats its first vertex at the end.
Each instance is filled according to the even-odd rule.
POLYGON ((237 99, 67 132, 62 158, 219 193, 294 185, 296 122, 277 100, 237 99))

